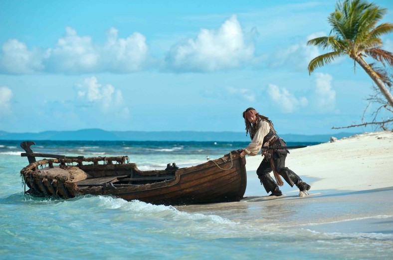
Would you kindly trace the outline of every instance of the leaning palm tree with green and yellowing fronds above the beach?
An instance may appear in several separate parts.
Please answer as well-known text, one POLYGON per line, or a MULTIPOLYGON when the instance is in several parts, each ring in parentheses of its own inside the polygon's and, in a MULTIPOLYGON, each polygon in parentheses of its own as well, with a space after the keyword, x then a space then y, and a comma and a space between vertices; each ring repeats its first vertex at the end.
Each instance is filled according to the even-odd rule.
POLYGON ((392 32, 393 23, 386 22, 377 26, 386 12, 387 9, 364 0, 337 2, 336 10, 328 17, 328 22, 332 25, 330 35, 307 42, 308 45, 323 49, 330 47, 332 51, 312 59, 308 64, 309 73, 338 56, 348 55, 369 74, 393 107, 393 96, 386 86, 391 86, 392 81, 386 70, 365 61, 365 57, 370 56, 384 67, 385 62, 393 66, 393 53, 380 48, 383 45, 380 35, 392 32))

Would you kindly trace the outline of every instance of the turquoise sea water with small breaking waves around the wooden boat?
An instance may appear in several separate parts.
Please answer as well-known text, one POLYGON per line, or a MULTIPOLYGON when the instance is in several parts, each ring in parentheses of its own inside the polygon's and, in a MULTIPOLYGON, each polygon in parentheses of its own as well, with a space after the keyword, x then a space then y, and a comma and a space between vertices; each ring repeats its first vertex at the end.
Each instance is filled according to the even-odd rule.
MULTIPOLYGON (((140 169, 159 169, 215 159, 246 144, 37 141, 32 149, 128 155, 140 169)), ((334 223, 339 206, 329 198, 172 207, 105 196, 24 196, 19 171, 28 163, 18 146, 0 141, 0 259, 390 259, 393 253, 392 231, 343 234, 305 227, 303 213, 314 216, 311 226, 334 223)), ((259 195, 265 196, 262 189, 259 195)), ((350 205, 361 207, 356 203, 350 205)), ((348 219, 356 217, 346 210, 348 219)), ((391 221, 391 211, 373 218, 391 221)))

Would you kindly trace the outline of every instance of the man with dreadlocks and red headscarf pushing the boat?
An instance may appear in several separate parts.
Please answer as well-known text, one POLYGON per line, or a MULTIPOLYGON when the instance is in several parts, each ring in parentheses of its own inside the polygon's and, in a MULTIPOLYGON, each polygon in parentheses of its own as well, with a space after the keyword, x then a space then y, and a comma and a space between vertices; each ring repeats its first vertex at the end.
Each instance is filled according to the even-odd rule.
POLYGON ((256 174, 266 192, 271 192, 269 196, 282 195, 279 186, 283 186, 284 182, 281 177, 283 177, 291 187, 296 185, 296 187, 299 188, 300 197, 308 195, 311 186, 303 182, 302 179, 288 167, 285 167, 285 158, 289 151, 285 148, 285 141, 281 139, 274 130, 272 121, 260 115, 252 107, 247 108, 243 112, 243 118, 246 126, 246 135, 250 134, 251 143, 243 149, 240 153, 240 157, 244 157, 246 154, 255 156, 262 149, 264 158, 256 170, 256 174), (269 147, 274 149, 269 149, 269 147), (270 176, 270 172, 272 171, 276 182, 270 176))

